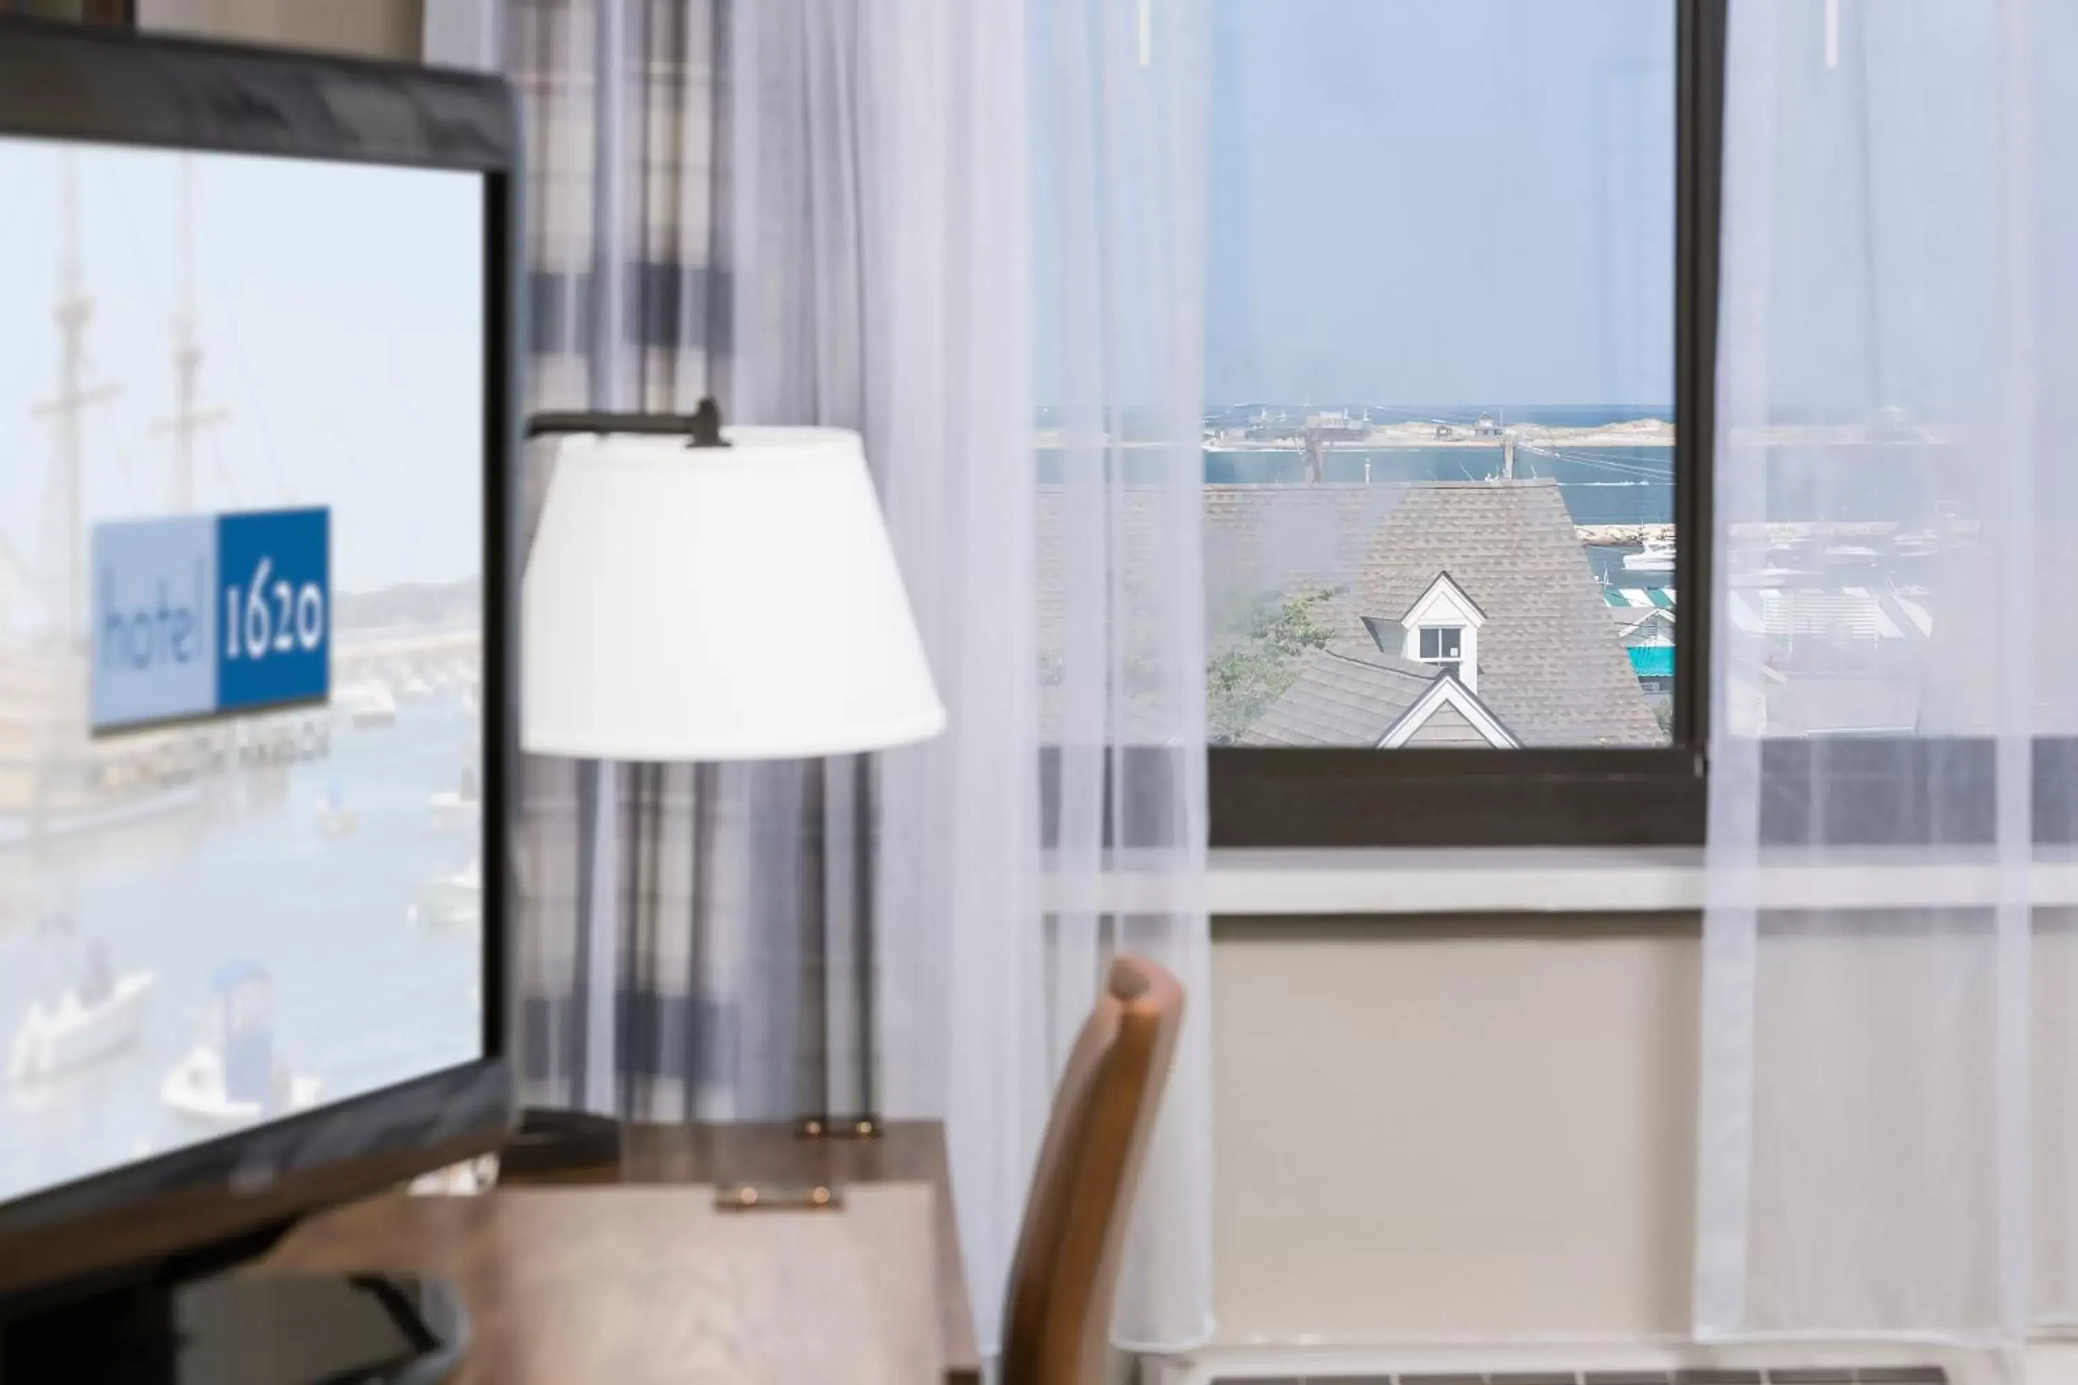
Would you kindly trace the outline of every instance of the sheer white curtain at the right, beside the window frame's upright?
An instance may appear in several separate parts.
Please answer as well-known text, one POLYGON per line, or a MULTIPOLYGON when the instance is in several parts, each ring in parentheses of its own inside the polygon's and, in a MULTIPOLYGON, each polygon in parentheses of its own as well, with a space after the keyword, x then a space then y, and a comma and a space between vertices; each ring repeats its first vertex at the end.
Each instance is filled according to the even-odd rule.
POLYGON ((1704 1337, 2078 1308, 2074 214, 2078 6, 1731 6, 1704 1337))

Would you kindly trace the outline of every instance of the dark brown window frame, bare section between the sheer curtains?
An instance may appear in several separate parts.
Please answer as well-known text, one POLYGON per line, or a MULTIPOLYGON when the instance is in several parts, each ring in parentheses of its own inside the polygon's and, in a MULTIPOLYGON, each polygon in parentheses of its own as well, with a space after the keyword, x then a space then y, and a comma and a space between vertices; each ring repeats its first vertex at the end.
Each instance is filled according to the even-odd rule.
POLYGON ((1727 0, 1675 4, 1673 743, 1209 748, 1214 847, 1698 845, 1708 787, 1710 486, 1727 0))

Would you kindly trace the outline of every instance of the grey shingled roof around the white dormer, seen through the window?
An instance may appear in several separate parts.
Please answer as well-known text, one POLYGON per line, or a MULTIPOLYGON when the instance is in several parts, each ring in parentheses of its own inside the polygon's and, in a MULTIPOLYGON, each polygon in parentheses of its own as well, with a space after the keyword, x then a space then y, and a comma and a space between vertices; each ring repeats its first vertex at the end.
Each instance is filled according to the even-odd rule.
MULTIPOLYGON (((1062 488, 1041 486, 1037 500, 1039 648, 1058 658, 1068 561, 1062 488)), ((1151 600, 1160 590, 1151 569, 1172 556, 1155 546, 1164 500, 1160 488, 1126 488, 1108 503, 1124 536, 1128 602, 1135 592, 1151 600)), ((1307 687, 1286 691, 1251 729, 1251 743, 1376 743, 1421 689, 1401 700, 1409 660, 1380 652, 1363 617, 1398 621, 1442 571, 1488 615, 1477 696, 1521 743, 1662 739, 1556 484, 1205 486, 1201 505, 1211 650, 1238 637, 1263 600, 1334 592, 1320 619, 1338 631, 1336 644, 1301 660, 1307 687), (1347 710, 1359 685, 1382 700, 1378 712, 1347 710), (1378 733, 1363 735, 1374 723, 1378 733), (1257 731, 1268 739, 1257 741, 1257 731)))

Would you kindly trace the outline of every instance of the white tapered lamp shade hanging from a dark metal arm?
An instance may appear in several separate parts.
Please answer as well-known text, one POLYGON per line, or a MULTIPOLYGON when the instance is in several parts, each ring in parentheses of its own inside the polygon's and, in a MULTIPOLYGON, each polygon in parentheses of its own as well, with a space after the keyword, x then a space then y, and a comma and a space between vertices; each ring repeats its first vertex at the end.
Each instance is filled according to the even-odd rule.
POLYGON ((945 725, 858 434, 561 442, 520 617, 520 741, 596 760, 879 750, 945 725))

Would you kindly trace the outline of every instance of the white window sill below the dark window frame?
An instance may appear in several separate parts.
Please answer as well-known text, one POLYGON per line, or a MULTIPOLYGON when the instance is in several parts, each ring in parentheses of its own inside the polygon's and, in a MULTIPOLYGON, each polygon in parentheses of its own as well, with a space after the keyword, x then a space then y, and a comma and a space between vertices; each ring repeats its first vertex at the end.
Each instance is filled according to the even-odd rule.
MULTIPOLYGON (((1706 903, 1698 847, 1226 847, 1209 853, 1205 909, 1216 916, 1696 914, 1706 903)), ((1049 903, 1062 901, 1049 880, 1049 903)), ((2078 851, 2041 849, 2032 903, 2078 905, 2078 851)), ((1989 907, 1999 870, 1989 849, 1841 849, 1824 862, 1764 862, 1752 882, 1764 909, 1989 907)), ((1103 876, 1097 907, 1157 912, 1160 874, 1103 876)))

